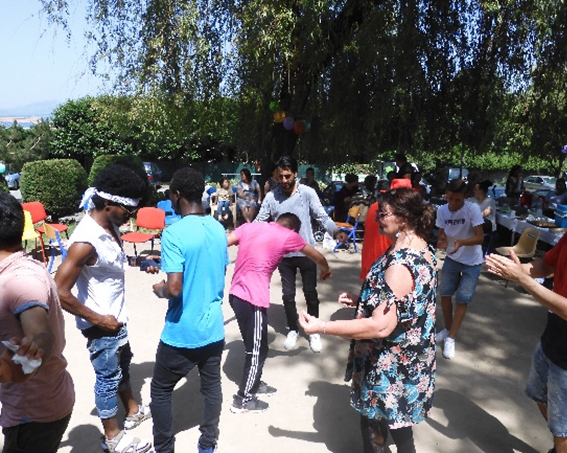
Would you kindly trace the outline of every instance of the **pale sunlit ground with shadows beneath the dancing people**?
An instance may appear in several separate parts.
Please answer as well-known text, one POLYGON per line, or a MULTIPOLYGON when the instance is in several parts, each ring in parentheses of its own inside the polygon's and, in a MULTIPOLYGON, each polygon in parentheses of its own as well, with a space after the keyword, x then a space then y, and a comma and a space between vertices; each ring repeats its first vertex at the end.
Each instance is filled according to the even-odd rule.
MULTIPOLYGON (((236 250, 227 273, 232 277, 236 250)), ((336 303, 340 292, 357 292, 360 255, 324 251, 334 277, 320 284, 321 316, 346 319, 351 310, 336 303)), ((149 401, 156 345, 166 302, 151 293, 152 283, 162 276, 148 276, 129 268, 126 276, 130 312, 130 340, 134 350, 133 388, 149 401)), ((362 449, 358 415, 348 404, 349 387, 343 382, 348 342, 324 337, 324 350, 313 354, 305 337, 294 351, 283 348, 285 318, 281 285, 276 272, 272 280, 270 309, 270 355, 264 380, 278 388, 262 414, 229 411, 237 390, 243 346, 236 320, 224 305, 226 350, 223 357, 223 413, 220 453, 354 453, 362 449)), ((226 300, 226 299, 225 299, 226 300)), ((304 306, 299 297, 299 306, 304 306)), ((443 359, 438 351, 437 390, 427 422, 418 425, 415 437, 419 453, 537 453, 547 452, 551 438, 537 408, 523 394, 530 356, 545 323, 545 310, 518 287, 503 283, 483 272, 478 294, 460 336, 457 356, 443 359)), ((438 318, 441 317, 440 307, 438 318)), ((100 453, 101 428, 93 403, 94 374, 85 349, 85 339, 66 317, 69 371, 75 380, 77 402, 71 425, 60 451, 100 453)), ((177 451, 196 451, 198 423, 202 410, 196 372, 180 382, 174 393, 177 451)), ((151 422, 134 434, 151 437, 151 422)), ((396 448, 390 447, 394 453, 396 448)))

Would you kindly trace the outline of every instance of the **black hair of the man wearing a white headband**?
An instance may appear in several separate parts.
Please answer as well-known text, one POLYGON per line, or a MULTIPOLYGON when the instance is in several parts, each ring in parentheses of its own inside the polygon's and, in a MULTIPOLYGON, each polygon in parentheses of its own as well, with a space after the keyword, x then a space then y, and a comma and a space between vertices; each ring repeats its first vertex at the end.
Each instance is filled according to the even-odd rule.
MULTIPOLYGON (((125 165, 110 165, 96 176, 93 186, 96 190, 119 197, 141 199, 146 194, 148 183, 125 165)), ((97 209, 104 207, 105 200, 98 195, 94 195, 92 200, 97 209)))

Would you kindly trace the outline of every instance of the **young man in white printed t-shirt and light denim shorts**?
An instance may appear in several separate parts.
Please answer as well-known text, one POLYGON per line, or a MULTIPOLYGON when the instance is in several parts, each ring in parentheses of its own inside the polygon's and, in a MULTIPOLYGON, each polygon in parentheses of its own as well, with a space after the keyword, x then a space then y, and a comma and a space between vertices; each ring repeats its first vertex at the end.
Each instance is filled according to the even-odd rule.
POLYGON ((446 249, 447 255, 439 286, 445 328, 436 339, 444 341, 443 357, 446 359, 455 357, 455 337, 472 302, 484 262, 484 219, 477 204, 465 201, 465 189, 466 183, 461 179, 450 181, 446 192, 447 204, 437 211, 437 248, 446 249), (453 295, 456 299, 454 312, 453 295))

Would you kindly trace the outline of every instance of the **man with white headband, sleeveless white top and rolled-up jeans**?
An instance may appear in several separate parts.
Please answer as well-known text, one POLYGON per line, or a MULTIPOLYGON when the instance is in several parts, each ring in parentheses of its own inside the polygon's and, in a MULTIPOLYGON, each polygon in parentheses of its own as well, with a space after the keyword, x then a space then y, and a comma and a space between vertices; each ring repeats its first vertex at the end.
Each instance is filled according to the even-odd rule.
MULTIPOLYGON (((122 165, 105 168, 85 193, 87 215, 70 238, 67 258, 55 276, 61 305, 75 315, 87 339, 93 365, 95 406, 104 429, 104 451, 145 453, 151 443, 120 430, 118 399, 126 411, 124 429, 133 429, 151 417, 138 405, 130 387, 132 351, 128 341, 124 273, 127 257, 118 227, 135 214, 146 185, 122 165), (77 286, 77 296, 71 292, 77 286)), ((80 206, 83 206, 81 202, 80 206)))

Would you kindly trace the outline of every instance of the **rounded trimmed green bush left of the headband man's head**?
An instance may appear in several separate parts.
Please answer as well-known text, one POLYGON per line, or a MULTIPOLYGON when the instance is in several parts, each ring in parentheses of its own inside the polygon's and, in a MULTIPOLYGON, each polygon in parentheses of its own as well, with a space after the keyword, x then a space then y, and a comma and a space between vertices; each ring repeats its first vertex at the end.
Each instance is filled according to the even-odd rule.
POLYGON ((74 159, 28 162, 22 168, 22 200, 41 201, 54 220, 76 213, 86 188, 87 173, 74 159))

